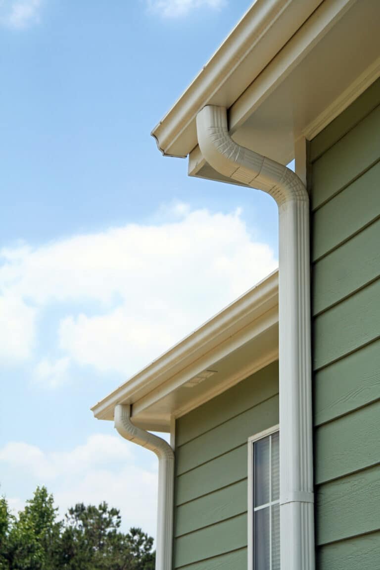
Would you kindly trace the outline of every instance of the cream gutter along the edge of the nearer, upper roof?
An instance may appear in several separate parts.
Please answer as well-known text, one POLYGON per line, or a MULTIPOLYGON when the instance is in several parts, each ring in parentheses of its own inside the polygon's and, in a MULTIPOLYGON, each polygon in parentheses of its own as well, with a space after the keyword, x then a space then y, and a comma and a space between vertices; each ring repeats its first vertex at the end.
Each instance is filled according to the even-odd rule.
POLYGON ((206 104, 231 107, 321 2, 256 0, 153 129, 162 154, 186 157, 197 145, 198 111, 206 104))

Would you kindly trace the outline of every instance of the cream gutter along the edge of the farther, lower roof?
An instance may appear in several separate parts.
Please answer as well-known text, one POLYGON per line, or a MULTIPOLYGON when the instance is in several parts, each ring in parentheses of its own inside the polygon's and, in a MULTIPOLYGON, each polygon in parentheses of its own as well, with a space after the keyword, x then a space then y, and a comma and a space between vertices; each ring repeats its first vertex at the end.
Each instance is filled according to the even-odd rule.
MULTIPOLYGON (((164 383, 172 374, 178 373, 185 359, 195 361, 205 352, 210 351, 213 345, 218 345, 220 336, 231 337, 242 326, 242 321, 255 321, 261 316, 260 307, 265 302, 278 296, 278 270, 273 271, 265 279, 248 290, 222 311, 218 312, 198 329, 191 332, 185 339, 179 341, 163 355, 153 360, 147 367, 134 374, 119 388, 108 394, 103 400, 92 406, 94 416, 101 420, 109 416, 109 411, 116 404, 128 401, 133 404, 134 396, 141 388, 150 390, 164 383), (154 382, 154 384, 153 384, 154 382), (149 388, 152 386, 152 388, 149 388)), ((267 311, 263 308, 262 313, 267 311)), ((136 398, 138 399, 138 398, 136 398)))

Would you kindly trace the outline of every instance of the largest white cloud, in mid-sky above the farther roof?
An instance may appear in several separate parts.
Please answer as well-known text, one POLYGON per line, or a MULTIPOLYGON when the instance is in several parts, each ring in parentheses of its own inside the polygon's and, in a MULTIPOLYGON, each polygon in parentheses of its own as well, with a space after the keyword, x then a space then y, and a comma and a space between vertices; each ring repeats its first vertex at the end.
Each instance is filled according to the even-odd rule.
POLYGON ((102 372, 136 372, 277 266, 272 249, 252 241, 240 210, 183 204, 164 223, 7 248, 0 256, 0 294, 13 299, 5 320, 15 323, 15 340, 3 335, 14 357, 30 355, 40 312, 57 304, 66 310, 56 323, 58 360, 44 357, 35 372, 50 386, 68 377, 69 359, 102 372))

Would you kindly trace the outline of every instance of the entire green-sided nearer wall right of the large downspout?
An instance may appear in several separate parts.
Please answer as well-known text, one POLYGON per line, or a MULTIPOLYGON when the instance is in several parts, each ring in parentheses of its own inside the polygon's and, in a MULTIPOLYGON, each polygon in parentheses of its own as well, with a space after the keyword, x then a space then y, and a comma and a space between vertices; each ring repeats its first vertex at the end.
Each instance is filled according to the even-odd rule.
POLYGON ((380 560, 380 80, 309 146, 319 570, 380 560))

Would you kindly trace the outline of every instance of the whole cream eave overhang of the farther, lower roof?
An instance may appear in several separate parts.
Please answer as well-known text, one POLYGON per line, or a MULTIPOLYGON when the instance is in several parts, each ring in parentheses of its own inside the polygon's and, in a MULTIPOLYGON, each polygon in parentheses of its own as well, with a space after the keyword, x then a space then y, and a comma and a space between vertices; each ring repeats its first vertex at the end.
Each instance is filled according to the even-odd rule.
POLYGON ((278 320, 275 271, 93 406, 94 416, 113 420, 115 406, 129 404, 135 425, 170 431, 172 418, 278 358, 278 320))

